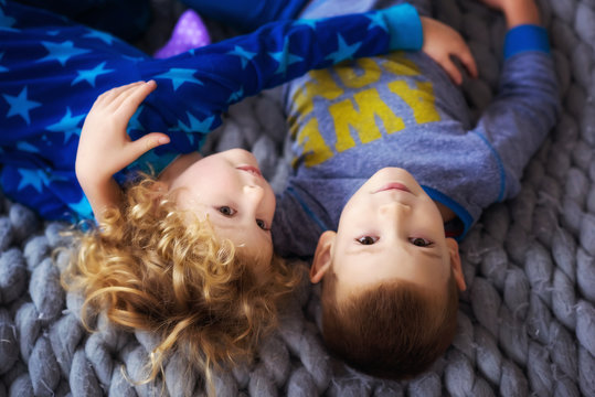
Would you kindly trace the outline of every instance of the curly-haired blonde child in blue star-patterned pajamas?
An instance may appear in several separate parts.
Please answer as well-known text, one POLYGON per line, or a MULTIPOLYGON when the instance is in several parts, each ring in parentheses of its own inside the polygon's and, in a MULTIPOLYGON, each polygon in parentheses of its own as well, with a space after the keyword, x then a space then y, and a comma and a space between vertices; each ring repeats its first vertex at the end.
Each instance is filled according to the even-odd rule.
POLYGON ((95 216, 64 277, 93 308, 84 319, 105 311, 158 333, 152 377, 177 351, 209 384, 212 365, 249 357, 298 277, 273 256, 275 198, 254 158, 201 159, 198 149, 231 104, 311 68, 403 49, 400 29, 422 37, 415 11, 396 7, 276 22, 152 60, 0 1, 2 189, 47 219, 95 216), (159 178, 134 172, 149 169, 159 178))

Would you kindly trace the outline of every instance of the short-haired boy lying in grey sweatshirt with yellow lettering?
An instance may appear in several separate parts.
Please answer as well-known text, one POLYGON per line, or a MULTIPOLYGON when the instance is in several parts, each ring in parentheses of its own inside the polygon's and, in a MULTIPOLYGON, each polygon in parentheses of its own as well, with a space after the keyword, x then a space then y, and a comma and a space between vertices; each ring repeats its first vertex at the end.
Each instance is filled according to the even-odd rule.
MULTIPOLYGON (((460 92, 422 53, 289 85, 295 172, 277 200, 275 247, 316 253, 310 279, 322 281, 327 346, 374 376, 415 376, 448 347, 465 289, 456 239, 482 208, 518 193, 555 122, 556 78, 534 1, 482 1, 509 31, 499 94, 475 127, 460 92)), ((315 2, 306 15, 337 10, 315 2)))

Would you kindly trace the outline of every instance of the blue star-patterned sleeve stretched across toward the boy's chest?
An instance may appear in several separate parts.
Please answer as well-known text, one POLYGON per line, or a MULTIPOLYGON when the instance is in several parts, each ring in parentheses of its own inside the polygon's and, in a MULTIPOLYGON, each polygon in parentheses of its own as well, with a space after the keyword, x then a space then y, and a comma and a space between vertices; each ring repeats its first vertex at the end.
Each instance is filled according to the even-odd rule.
MULTIPOLYGON (((421 22, 412 6, 318 20, 278 21, 168 60, 138 64, 158 88, 136 119, 144 130, 202 136, 219 127, 227 107, 310 69, 346 60, 421 47, 421 22), (407 31, 407 33, 403 33, 407 31)), ((176 139, 172 137, 172 143, 176 139)), ((171 148, 171 147, 170 147, 171 148)), ((164 150, 164 149, 161 149, 164 150)))

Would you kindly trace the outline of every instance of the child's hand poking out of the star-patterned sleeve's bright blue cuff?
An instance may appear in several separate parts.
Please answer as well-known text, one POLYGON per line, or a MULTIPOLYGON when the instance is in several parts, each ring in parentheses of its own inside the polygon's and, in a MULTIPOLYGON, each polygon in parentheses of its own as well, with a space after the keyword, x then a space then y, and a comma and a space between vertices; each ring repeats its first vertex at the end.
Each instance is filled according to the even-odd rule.
POLYGON ((450 56, 456 56, 463 63, 471 77, 477 77, 477 65, 463 36, 453 28, 427 17, 421 17, 424 30, 422 51, 436 61, 450 76, 455 84, 463 83, 463 75, 450 56))

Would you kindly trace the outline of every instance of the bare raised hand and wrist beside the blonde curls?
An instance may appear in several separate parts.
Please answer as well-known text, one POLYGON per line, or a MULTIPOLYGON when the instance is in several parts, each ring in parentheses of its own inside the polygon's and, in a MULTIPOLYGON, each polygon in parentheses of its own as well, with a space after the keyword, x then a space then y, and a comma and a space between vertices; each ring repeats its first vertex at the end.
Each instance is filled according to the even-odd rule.
POLYGON ((156 87, 138 82, 102 94, 88 112, 76 152, 76 178, 98 222, 104 211, 121 203, 114 174, 146 151, 169 142, 168 136, 152 132, 136 141, 126 126, 140 103, 156 87))

